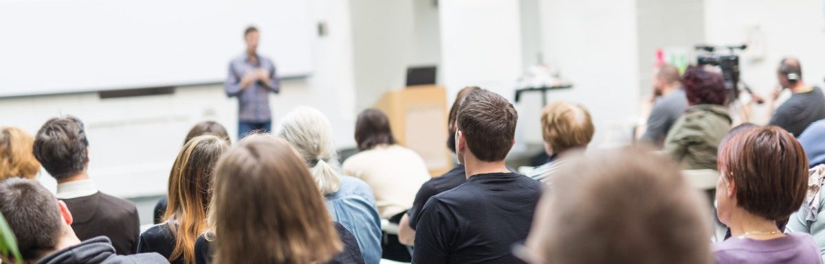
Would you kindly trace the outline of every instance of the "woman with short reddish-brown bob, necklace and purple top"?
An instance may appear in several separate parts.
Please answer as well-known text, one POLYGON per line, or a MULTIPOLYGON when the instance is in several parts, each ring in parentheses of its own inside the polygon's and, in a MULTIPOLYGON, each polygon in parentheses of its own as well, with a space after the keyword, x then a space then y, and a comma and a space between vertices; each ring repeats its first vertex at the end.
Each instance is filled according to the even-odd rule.
POLYGON ((716 263, 822 263, 809 234, 776 226, 803 204, 807 169, 802 146, 780 127, 753 127, 722 146, 717 215, 733 237, 714 243, 716 263))

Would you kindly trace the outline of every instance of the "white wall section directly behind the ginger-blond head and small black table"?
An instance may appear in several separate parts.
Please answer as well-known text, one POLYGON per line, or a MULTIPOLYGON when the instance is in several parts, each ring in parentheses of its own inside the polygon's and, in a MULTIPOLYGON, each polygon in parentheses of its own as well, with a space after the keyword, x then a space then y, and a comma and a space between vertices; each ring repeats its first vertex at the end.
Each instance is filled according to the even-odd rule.
POLYGON ((628 124, 637 114, 635 7, 634 0, 540 1, 545 61, 574 85, 550 92, 549 99, 587 106, 596 124, 595 145, 629 141, 628 124))

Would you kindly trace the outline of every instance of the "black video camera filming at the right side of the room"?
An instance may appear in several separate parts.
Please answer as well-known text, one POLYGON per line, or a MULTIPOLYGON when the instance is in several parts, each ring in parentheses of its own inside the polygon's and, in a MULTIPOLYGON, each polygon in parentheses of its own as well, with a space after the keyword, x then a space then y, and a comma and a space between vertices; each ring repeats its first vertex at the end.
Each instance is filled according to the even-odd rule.
MULTIPOLYGON (((695 49, 703 52, 696 55, 696 63, 700 66, 711 65, 722 69, 725 86, 730 92, 728 101, 738 99, 740 85, 747 90, 748 93, 752 93, 750 87, 742 81, 739 81, 739 56, 736 54, 737 50, 747 49, 747 45, 721 47, 722 49, 728 49, 728 53, 726 54, 718 53, 716 51, 718 48, 719 47, 704 44, 696 45, 695 49)), ((761 102, 757 103, 761 104, 761 102)))

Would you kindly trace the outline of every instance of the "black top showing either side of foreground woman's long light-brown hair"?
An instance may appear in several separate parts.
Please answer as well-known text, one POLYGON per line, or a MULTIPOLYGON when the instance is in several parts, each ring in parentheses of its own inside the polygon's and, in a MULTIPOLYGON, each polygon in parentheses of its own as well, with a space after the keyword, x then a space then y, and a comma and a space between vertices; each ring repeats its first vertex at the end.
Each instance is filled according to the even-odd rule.
MULTIPOLYGON (((361 257, 361 248, 358 247, 356 236, 338 222, 334 222, 338 238, 344 246, 344 251, 335 255, 326 264, 364 264, 364 257, 361 257)), ((206 240, 204 235, 200 235, 195 241, 195 263, 211 264, 212 249, 211 242, 206 240)))

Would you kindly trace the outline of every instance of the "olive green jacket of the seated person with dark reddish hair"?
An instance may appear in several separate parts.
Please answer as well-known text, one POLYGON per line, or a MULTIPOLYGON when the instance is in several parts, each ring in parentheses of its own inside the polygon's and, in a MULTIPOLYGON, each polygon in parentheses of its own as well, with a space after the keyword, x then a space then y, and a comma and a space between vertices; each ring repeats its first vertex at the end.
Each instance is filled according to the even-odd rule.
POLYGON ((716 169, 719 142, 731 126, 728 108, 719 104, 691 105, 667 132, 662 151, 683 169, 716 169))

